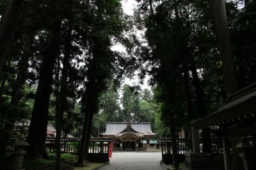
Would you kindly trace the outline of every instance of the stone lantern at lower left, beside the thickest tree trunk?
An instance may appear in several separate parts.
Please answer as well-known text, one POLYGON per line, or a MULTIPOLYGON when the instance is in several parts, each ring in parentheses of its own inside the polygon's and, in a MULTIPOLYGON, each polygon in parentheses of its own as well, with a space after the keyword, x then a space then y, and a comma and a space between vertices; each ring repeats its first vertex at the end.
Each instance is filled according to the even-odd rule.
POLYGON ((27 143, 25 140, 24 135, 20 137, 20 141, 17 141, 15 146, 14 156, 15 156, 15 162, 14 162, 14 170, 20 170, 22 169, 23 159, 24 155, 27 153, 25 148, 29 146, 29 143, 27 143))

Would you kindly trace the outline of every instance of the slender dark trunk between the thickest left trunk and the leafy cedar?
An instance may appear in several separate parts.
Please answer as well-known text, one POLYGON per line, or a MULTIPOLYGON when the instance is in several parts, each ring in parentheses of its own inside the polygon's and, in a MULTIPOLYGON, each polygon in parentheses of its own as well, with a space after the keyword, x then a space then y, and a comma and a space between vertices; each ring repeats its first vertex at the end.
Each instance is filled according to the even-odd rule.
POLYGON ((58 103, 56 105, 56 164, 55 169, 60 169, 61 163, 61 132, 63 128, 63 114, 65 109, 65 104, 67 102, 67 79, 68 79, 68 68, 71 50, 71 31, 68 29, 68 35, 65 43, 65 54, 63 58, 63 68, 61 73, 61 84, 60 84, 60 94, 58 97, 58 103))

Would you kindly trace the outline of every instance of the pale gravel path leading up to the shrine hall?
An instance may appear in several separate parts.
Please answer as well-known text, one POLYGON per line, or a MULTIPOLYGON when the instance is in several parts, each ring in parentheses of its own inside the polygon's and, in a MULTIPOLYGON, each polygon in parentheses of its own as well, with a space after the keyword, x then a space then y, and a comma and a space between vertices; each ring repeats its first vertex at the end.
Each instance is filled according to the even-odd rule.
POLYGON ((164 169, 160 160, 161 152, 113 152, 109 165, 100 169, 164 169))

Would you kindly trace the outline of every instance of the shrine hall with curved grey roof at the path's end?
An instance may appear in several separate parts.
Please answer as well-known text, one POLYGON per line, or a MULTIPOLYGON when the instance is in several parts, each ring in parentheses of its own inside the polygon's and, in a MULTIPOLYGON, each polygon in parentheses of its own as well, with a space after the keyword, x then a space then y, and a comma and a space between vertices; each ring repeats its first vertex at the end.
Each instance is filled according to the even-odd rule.
POLYGON ((150 122, 108 122, 103 137, 113 139, 113 149, 120 151, 147 150, 150 139, 156 134, 152 132, 150 122))

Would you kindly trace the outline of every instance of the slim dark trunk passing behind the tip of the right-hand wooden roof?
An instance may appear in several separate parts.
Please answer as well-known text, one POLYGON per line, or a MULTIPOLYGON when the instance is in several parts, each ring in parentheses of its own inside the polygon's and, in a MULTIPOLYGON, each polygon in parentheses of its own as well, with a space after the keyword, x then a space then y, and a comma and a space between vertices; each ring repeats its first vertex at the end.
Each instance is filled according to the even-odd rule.
MULTIPOLYGON (((195 92, 196 92, 196 102, 197 102, 197 108, 200 118, 204 118, 207 116, 207 112, 205 110, 204 105, 204 89, 202 88, 201 81, 198 77, 197 68, 195 65, 195 61, 193 58, 190 60, 191 64, 191 73, 193 77, 193 82, 195 86, 195 92)), ((204 128, 202 131, 202 138, 203 138, 203 151, 211 153, 211 133, 209 128, 204 128)))

